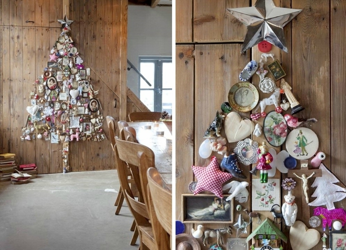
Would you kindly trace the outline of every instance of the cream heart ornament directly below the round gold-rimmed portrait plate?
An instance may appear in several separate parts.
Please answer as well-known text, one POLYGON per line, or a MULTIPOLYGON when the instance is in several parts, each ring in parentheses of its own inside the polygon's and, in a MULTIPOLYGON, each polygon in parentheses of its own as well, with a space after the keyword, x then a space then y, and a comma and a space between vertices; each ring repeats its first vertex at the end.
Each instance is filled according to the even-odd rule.
POLYGON ((236 142, 251 135, 255 125, 251 120, 243 119, 238 113, 230 112, 225 118, 224 128, 228 142, 236 142))

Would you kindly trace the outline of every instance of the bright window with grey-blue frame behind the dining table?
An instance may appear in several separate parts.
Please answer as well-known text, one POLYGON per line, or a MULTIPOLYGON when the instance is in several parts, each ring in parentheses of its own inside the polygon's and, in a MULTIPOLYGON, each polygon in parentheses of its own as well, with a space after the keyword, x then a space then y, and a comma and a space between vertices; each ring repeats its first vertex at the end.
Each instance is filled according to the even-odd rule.
POLYGON ((139 71, 151 86, 139 77, 139 99, 151 111, 172 113, 173 65, 171 56, 139 56, 139 71))

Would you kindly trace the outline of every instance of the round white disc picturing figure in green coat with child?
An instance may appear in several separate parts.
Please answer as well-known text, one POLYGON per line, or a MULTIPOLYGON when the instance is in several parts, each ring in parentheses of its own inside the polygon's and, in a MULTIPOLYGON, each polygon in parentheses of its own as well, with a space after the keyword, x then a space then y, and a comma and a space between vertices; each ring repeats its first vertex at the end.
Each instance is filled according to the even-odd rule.
POLYGON ((292 130, 286 139, 286 149, 292 157, 298 160, 307 160, 317 152, 319 138, 308 128, 292 130))

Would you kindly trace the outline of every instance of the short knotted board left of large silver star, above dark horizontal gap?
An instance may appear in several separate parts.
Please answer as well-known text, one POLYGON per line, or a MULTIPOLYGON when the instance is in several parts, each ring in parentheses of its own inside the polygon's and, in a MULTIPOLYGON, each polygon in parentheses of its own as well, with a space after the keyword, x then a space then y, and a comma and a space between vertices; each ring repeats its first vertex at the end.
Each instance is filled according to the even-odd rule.
POLYGON ((241 7, 249 7, 249 3, 242 0, 193 1, 193 41, 243 41, 245 25, 226 10, 241 7))

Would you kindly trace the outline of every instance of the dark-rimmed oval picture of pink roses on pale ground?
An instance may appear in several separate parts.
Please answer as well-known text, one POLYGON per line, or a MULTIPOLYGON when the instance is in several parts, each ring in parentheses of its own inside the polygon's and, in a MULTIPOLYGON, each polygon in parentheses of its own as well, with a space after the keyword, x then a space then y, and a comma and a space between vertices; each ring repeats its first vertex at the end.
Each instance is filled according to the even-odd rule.
POLYGON ((269 112, 263 122, 264 136, 274 147, 281 146, 287 137, 287 123, 282 114, 276 111, 269 112))

